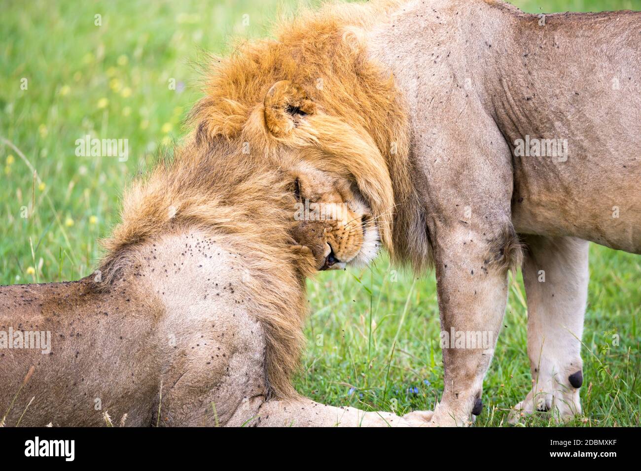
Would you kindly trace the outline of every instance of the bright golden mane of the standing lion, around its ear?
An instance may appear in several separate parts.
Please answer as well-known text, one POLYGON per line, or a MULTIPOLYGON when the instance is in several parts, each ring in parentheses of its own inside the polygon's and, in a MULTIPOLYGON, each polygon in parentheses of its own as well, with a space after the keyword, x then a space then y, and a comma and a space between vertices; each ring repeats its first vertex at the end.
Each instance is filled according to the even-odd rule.
POLYGON ((319 169, 358 184, 394 261, 417 272, 431 263, 425 217, 410 162, 410 127, 394 77, 367 57, 364 36, 398 1, 326 4, 281 20, 276 39, 238 44, 212 61, 206 96, 190 120, 195 145, 246 142, 253 154, 304 149, 319 169), (265 95, 278 81, 299 85, 318 112, 288 136, 265 125, 265 95))

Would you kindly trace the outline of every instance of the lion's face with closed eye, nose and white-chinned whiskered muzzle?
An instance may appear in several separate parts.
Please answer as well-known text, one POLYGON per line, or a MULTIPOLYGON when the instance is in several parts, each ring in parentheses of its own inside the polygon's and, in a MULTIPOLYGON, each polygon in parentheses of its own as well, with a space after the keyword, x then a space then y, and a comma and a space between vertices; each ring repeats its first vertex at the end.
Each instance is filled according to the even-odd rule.
POLYGON ((363 266, 376 257, 378 230, 353 184, 309 166, 289 176, 296 198, 293 235, 301 249, 311 252, 317 269, 363 266))

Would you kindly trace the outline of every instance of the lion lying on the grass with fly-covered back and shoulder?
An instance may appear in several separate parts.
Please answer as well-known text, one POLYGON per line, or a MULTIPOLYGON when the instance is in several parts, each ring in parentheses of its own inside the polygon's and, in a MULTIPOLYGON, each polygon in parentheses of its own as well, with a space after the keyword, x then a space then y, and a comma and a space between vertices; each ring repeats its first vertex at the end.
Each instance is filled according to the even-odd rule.
POLYGON ((292 387, 306 277, 378 246, 360 195, 318 176, 219 140, 138 178, 92 276, 0 286, 1 424, 416 425, 292 387))

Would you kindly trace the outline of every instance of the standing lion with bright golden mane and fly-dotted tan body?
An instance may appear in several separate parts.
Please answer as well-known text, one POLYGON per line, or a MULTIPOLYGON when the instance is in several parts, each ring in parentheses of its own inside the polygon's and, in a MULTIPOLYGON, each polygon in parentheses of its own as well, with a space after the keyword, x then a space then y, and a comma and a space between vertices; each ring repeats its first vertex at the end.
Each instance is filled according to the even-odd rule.
POLYGON ((442 331, 494 339, 444 349, 426 426, 481 413, 522 267, 532 386, 510 420, 565 420, 581 412, 588 241, 641 252, 640 28, 639 12, 498 0, 329 4, 213 61, 191 139, 355 185, 392 261, 435 269, 442 331))

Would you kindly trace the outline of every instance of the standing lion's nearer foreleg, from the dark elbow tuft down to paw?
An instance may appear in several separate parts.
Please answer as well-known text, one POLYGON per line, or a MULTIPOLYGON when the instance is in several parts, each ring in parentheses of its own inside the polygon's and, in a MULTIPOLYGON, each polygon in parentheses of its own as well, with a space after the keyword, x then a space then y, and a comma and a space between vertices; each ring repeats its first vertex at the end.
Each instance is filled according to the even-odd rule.
MULTIPOLYGON (((511 226, 510 226, 511 227, 511 226)), ((480 234, 441 227, 435 244, 444 391, 431 418, 436 426, 467 426, 483 409, 483 377, 501 329, 507 267, 494 260, 510 251, 498 231, 480 234)))

